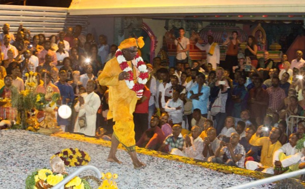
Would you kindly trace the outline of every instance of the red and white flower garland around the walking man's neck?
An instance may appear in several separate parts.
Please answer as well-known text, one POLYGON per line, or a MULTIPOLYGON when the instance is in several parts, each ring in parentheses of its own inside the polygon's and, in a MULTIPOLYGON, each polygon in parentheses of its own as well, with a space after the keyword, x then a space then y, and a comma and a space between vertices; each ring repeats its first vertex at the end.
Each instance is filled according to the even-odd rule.
POLYGON ((124 72, 129 73, 129 78, 125 79, 125 82, 126 82, 128 88, 135 91, 137 94, 137 97, 141 98, 143 96, 143 88, 144 88, 146 82, 148 81, 148 75, 149 75, 147 67, 146 67, 145 63, 143 62, 142 57, 139 56, 138 53, 135 56, 135 60, 137 63, 136 67, 140 71, 139 78, 136 83, 134 83, 134 81, 133 81, 133 76, 134 76, 133 69, 131 67, 129 67, 128 62, 127 62, 126 58, 123 56, 123 53, 120 49, 117 49, 117 51, 115 52, 115 57, 118 61, 120 69, 123 70, 124 72))

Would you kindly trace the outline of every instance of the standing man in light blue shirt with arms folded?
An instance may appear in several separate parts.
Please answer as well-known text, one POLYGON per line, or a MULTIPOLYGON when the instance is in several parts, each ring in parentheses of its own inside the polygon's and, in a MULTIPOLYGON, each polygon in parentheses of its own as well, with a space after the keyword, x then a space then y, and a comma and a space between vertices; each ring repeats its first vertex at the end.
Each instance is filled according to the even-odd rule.
POLYGON ((188 98, 192 99, 193 110, 200 109, 203 117, 207 117, 207 103, 210 95, 210 87, 206 86, 205 75, 198 73, 196 76, 197 84, 194 85, 188 92, 188 98))

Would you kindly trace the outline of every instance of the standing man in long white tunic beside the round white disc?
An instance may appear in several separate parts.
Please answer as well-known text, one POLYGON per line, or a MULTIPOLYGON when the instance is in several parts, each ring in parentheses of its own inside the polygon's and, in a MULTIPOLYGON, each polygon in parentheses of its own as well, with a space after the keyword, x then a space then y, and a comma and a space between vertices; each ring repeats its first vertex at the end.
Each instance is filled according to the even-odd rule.
POLYGON ((86 92, 78 97, 78 102, 74 106, 75 111, 78 112, 74 132, 83 133, 87 136, 95 136, 97 112, 101 105, 100 97, 94 92, 95 87, 95 81, 88 81, 86 92), (80 128, 78 117, 84 114, 86 117, 86 127, 80 128))

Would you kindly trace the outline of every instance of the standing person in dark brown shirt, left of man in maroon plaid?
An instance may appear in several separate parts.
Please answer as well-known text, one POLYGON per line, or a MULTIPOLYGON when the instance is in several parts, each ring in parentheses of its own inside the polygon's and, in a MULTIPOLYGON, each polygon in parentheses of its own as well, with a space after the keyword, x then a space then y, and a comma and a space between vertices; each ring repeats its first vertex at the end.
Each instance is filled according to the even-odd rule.
MULTIPOLYGON (((256 121, 257 124, 262 122, 269 103, 269 94, 262 88, 262 82, 262 78, 256 78, 254 80, 254 88, 250 90, 248 100, 251 118, 256 121)), ((270 92, 272 92, 272 90, 270 92)))

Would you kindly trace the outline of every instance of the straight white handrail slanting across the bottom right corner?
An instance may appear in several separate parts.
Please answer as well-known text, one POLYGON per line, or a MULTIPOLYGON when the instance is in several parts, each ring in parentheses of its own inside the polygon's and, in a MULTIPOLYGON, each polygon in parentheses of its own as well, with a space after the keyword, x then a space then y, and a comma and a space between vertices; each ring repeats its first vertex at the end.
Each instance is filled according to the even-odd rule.
POLYGON ((301 175, 301 174, 305 174, 305 169, 301 169, 301 170, 297 170, 297 171, 293 171, 293 172, 285 173, 285 174, 281 174, 281 175, 271 176, 271 177, 268 177, 268 178, 263 178, 263 179, 252 181, 252 182, 249 182, 249 183, 240 184, 238 186, 228 187, 227 189, 251 188, 251 187, 254 187, 254 186, 258 186, 258 185, 282 180, 282 179, 285 179, 285 178, 294 177, 294 176, 301 175))

